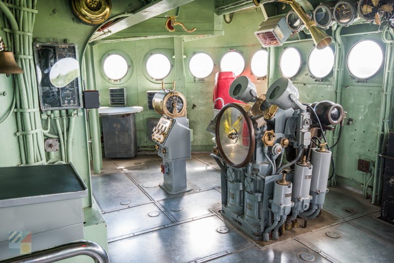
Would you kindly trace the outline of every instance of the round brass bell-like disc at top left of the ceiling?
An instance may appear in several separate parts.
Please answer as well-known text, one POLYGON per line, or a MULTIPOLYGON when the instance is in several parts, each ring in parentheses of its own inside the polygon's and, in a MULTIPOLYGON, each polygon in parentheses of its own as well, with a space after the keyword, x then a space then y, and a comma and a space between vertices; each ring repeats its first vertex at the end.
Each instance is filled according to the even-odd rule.
POLYGON ((98 25, 111 14, 111 0, 71 0, 71 9, 82 22, 98 25))

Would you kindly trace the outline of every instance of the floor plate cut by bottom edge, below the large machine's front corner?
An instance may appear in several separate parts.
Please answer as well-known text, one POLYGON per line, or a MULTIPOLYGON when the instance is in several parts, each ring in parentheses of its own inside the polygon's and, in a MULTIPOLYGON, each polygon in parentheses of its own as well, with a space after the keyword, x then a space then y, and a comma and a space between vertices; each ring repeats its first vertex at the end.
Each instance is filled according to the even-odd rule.
POLYGON ((296 240, 287 240, 273 244, 264 250, 256 247, 242 250, 228 256, 210 261, 210 263, 305 263, 299 257, 301 253, 309 253, 315 257, 315 263, 329 263, 313 250, 296 240))

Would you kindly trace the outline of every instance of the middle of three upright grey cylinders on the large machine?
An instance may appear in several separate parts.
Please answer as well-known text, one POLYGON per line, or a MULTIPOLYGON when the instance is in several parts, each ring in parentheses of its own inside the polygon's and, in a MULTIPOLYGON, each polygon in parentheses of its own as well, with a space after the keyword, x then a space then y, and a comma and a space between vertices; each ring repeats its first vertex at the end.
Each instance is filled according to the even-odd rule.
POLYGON ((309 198, 312 180, 312 164, 296 163, 293 175, 293 197, 309 198))

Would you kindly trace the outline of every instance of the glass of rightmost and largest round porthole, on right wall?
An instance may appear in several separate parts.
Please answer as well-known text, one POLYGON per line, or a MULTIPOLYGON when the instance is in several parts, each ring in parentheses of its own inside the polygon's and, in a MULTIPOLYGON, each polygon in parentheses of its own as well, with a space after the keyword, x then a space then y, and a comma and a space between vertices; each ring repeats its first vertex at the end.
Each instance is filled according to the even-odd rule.
POLYGON ((374 76, 383 64, 383 51, 373 40, 361 40, 350 49, 347 66, 350 74, 358 79, 374 76))

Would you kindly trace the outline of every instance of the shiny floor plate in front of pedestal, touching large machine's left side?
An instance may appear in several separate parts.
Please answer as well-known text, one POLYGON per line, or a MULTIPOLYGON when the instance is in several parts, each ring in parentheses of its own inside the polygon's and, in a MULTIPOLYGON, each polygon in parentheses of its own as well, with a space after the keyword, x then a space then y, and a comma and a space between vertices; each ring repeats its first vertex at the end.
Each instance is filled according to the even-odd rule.
POLYGON ((177 221, 211 214, 211 208, 221 206, 221 194, 212 189, 182 197, 165 199, 159 202, 177 221), (180 211, 173 211, 174 207, 182 207, 180 211))

